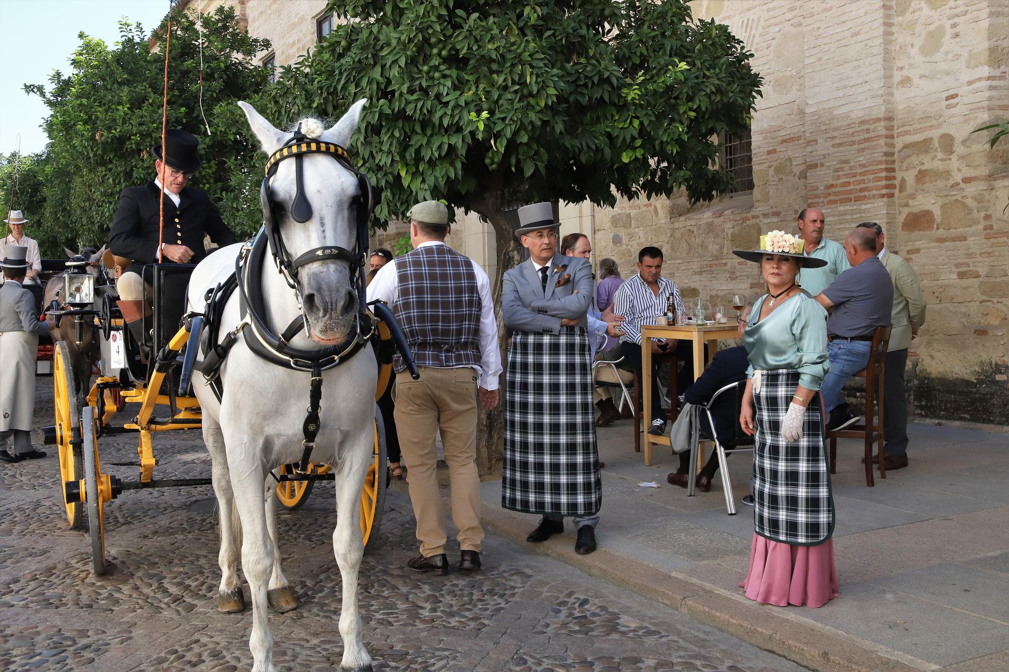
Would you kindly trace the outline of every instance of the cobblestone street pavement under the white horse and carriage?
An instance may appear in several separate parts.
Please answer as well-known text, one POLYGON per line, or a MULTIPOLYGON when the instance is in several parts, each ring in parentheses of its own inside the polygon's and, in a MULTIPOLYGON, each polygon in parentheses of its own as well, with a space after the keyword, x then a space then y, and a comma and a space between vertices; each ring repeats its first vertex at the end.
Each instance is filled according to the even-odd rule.
MULTIPOLYGON (((51 422, 50 384, 38 380, 38 426, 51 422)), ((105 470, 136 478, 135 440, 103 438, 105 470)), ((155 477, 209 474, 199 432, 155 436, 154 447, 155 477)), ((249 612, 215 609, 216 520, 198 503, 209 486, 128 491, 107 505, 109 571, 95 577, 87 531, 67 526, 55 451, 0 467, 0 669, 248 669, 249 612)), ((285 572, 301 601, 270 617, 281 670, 339 665, 334 523, 332 483, 281 514, 285 572)), ((477 575, 415 574, 405 567, 412 533, 409 498, 393 491, 381 541, 361 568, 363 639, 376 670, 800 669, 493 536, 477 575)))

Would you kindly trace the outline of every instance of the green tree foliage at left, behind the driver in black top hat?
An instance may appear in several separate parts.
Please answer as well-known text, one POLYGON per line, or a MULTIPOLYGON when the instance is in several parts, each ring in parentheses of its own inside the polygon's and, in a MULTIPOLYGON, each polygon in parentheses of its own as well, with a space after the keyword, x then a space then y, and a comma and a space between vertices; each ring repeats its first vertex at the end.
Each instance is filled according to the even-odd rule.
MULTIPOLYGON (((25 86, 49 108, 46 177, 33 230, 70 247, 106 242, 119 192, 154 177, 150 148, 160 144, 165 23, 148 37, 140 24, 123 21, 120 35, 110 48, 82 32, 70 74, 54 72, 47 88, 25 86)), ((212 134, 200 110, 201 33, 195 18, 179 12, 172 15, 167 124, 200 137, 203 166, 192 184, 210 194, 233 229, 248 233, 261 223, 250 186, 262 161, 235 102, 267 86, 269 73, 252 57, 269 43, 242 30, 230 7, 203 17, 202 42, 203 110, 212 134)))

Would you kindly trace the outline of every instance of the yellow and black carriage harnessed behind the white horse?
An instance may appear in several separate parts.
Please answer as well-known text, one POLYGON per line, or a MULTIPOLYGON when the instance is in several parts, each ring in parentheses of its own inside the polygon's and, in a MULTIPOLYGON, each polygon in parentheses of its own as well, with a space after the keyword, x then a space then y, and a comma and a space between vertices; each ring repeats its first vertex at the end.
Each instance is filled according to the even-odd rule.
MULTIPOLYGON (((154 478, 157 460, 153 434, 201 426, 201 411, 192 396, 189 374, 199 349, 202 317, 183 315, 183 297, 192 264, 148 267, 153 274, 153 312, 149 325, 144 324, 143 333, 151 336, 151 342, 146 344, 151 354, 141 356, 145 344, 136 343, 124 328, 116 308, 115 286, 95 287, 94 279, 68 272, 63 297, 73 301, 60 308, 53 305, 46 311, 58 320, 78 323, 79 339, 88 337, 88 330, 92 330, 101 346, 100 375, 83 396, 75 390, 71 348, 63 341, 55 344, 52 364, 55 424, 43 430, 45 442, 58 447, 64 503, 72 529, 83 529, 87 511, 95 574, 105 571, 105 505, 125 490, 211 484, 210 478, 154 478), (135 414, 121 426, 114 425, 116 414, 125 408, 135 409, 135 414), (140 466, 135 480, 123 480, 102 470, 99 440, 122 433, 138 435, 140 466)), ((377 400, 389 381, 394 341, 403 349, 405 346, 384 305, 374 306, 374 313, 368 315, 374 320, 375 352, 379 358, 377 400)), ((289 509, 298 509, 312 492, 315 481, 330 480, 333 474, 325 464, 309 463, 304 468, 300 464, 287 464, 274 472, 274 478, 278 501, 289 509)), ((377 539, 387 484, 384 429, 376 421, 374 452, 360 502, 365 550, 377 539)))

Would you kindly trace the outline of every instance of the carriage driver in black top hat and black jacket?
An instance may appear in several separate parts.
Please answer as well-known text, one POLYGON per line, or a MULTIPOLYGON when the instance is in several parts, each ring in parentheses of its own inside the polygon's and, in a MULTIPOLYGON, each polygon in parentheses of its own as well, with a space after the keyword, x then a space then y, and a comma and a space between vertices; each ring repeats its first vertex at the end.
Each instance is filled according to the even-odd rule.
MULTIPOLYGON (((116 282, 119 308, 130 333, 143 343, 141 329, 145 314, 143 266, 160 258, 162 263, 199 263, 206 251, 204 236, 223 247, 236 242, 235 234, 221 220, 207 194, 187 187, 201 164, 199 140, 183 130, 169 130, 161 160, 161 146, 151 148, 157 177, 143 187, 128 187, 119 195, 119 208, 112 220, 109 249, 131 260, 116 282), (161 196, 163 194, 163 197, 161 196), (164 201, 164 230, 160 227, 160 205, 164 201), (161 241, 158 247, 158 241, 161 241)), ((149 286, 149 282, 148 282, 149 286)))

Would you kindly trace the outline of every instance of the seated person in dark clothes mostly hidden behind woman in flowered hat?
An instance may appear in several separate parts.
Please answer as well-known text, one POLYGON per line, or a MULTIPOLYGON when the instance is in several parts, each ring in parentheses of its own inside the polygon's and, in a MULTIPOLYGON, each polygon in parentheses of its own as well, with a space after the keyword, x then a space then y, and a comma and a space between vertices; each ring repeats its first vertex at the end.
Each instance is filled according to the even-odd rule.
MULTIPOLYGON (((753 302, 747 304, 747 307, 743 309, 743 313, 740 314, 738 319, 739 328, 738 332, 740 335, 740 340, 743 340, 743 330, 747 328, 747 321, 750 319, 750 311, 753 309, 753 302)), ((692 385, 686 388, 683 393, 683 400, 687 404, 707 404, 714 393, 718 391, 725 385, 739 382, 740 380, 747 379, 747 366, 750 362, 747 360, 747 349, 742 345, 737 345, 733 348, 726 348, 724 350, 718 350, 714 353, 714 357, 711 358, 711 362, 704 369, 704 372, 700 374, 692 385)), ((677 419, 677 423, 688 422, 688 415, 681 414, 680 418, 677 419)), ((714 404, 711 406, 711 418, 714 420, 714 433, 711 432, 711 424, 707 421, 707 414, 700 414, 700 433, 702 436, 717 436, 718 442, 724 445, 730 443, 736 438, 736 428, 740 423, 740 417, 736 412, 736 395, 730 393, 723 393, 714 404)), ((675 425, 674 425, 675 428, 675 425)), ((675 434, 675 429, 673 431, 675 434)), ((673 446, 676 450, 681 450, 684 446, 673 446)), ((728 455, 730 453, 726 453, 728 455)), ((666 481, 670 485, 679 485, 680 487, 686 487, 688 478, 690 477, 688 472, 690 470, 690 450, 689 446, 686 446, 685 450, 680 452, 680 466, 674 473, 666 476, 666 481)), ((697 474, 697 478, 694 481, 694 485, 701 492, 707 492, 711 489, 711 478, 714 476, 714 472, 718 470, 718 453, 716 451, 711 451, 711 457, 708 458, 707 464, 704 468, 700 470, 697 474)))

